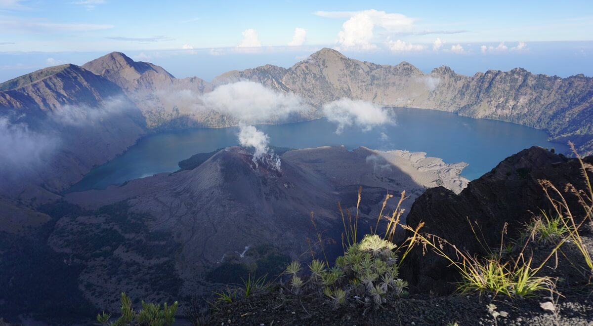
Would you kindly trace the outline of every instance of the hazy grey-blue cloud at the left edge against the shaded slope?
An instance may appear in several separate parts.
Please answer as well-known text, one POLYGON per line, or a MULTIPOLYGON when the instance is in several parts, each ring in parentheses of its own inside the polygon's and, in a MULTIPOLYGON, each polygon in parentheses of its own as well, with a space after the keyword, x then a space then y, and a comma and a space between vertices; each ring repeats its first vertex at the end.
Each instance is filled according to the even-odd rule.
POLYGON ((7 117, 0 117, 0 172, 36 167, 57 148, 58 140, 30 130, 26 123, 11 123, 7 117))

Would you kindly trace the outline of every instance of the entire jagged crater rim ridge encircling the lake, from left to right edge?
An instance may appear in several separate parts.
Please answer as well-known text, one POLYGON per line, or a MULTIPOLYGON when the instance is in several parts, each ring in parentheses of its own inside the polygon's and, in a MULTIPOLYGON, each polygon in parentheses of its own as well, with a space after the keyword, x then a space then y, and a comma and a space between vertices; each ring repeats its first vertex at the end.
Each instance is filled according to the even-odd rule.
MULTIPOLYGON (((26 113, 24 119, 34 125, 62 106, 94 108, 109 98, 121 97, 134 110, 137 108, 141 116, 128 120, 125 126, 118 122, 119 126, 114 128, 113 136, 123 137, 125 146, 103 143, 104 140, 96 144, 101 150, 109 148, 106 157, 120 154, 146 132, 236 126, 238 120, 232 116, 196 110, 195 106, 201 95, 243 80, 301 97, 311 111, 292 117, 290 122, 323 117, 324 104, 347 97, 383 106, 429 108, 524 124, 544 129, 558 141, 572 140, 581 154, 593 153, 593 78, 584 75, 560 78, 514 68, 466 76, 447 66, 424 73, 408 62, 378 65, 350 59, 329 48, 290 68, 263 65, 230 71, 212 82, 195 77, 178 79, 160 66, 135 62, 121 52, 108 53, 82 66, 57 67, 0 84, 5 89, 0 91, 0 115, 26 113), (137 122, 138 119, 144 121, 137 122), (123 130, 138 132, 118 136, 124 135, 123 130)), ((84 152, 75 152, 78 154, 69 161, 88 161, 80 156, 84 152)), ((84 174, 104 162, 105 159, 95 158, 80 171, 84 174)), ((74 181, 50 188, 61 191, 74 181)))

